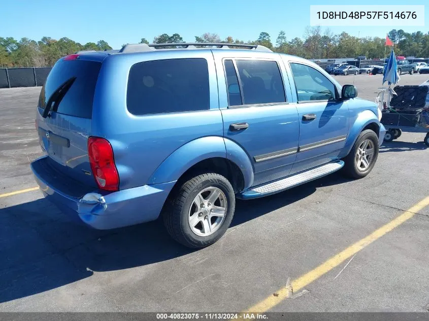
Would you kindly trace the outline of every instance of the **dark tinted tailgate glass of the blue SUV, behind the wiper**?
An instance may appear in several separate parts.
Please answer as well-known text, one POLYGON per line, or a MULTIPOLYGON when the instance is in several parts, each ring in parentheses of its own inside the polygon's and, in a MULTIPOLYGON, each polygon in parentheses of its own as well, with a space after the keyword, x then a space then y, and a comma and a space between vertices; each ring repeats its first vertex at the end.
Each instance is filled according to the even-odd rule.
POLYGON ((49 98, 69 79, 75 78, 58 104, 55 112, 81 118, 91 118, 95 84, 100 73, 101 62, 88 60, 60 60, 55 63, 42 87, 39 107, 44 109, 49 98))

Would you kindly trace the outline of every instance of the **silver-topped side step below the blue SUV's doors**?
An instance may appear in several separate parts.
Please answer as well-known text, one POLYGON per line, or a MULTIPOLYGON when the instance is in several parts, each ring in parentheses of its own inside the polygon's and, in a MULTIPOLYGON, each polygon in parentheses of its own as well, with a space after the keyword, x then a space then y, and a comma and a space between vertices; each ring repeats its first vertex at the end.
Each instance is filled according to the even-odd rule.
POLYGON ((288 190, 292 187, 317 180, 320 177, 331 174, 344 166, 343 161, 337 161, 335 163, 328 163, 299 174, 295 174, 285 179, 275 181, 272 183, 268 183, 266 185, 261 185, 258 187, 254 187, 251 190, 248 190, 242 193, 239 197, 242 199, 250 199, 250 198, 258 198, 262 196, 267 196, 271 194, 275 194, 281 191, 288 190))

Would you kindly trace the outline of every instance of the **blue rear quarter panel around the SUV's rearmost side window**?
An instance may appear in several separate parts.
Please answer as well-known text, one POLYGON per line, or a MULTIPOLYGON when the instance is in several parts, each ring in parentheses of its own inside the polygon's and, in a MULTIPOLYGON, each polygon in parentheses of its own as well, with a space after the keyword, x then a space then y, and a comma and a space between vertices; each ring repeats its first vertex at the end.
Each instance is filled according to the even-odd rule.
MULTIPOLYGON (((95 89, 92 135, 110 141, 119 173, 120 189, 148 184, 158 166, 190 141, 207 136, 222 137, 222 115, 211 52, 169 50, 118 54, 106 58, 95 89), (207 60, 210 110, 145 116, 130 114, 126 108, 130 67, 142 61, 176 58, 207 60)), ((168 169, 164 168, 164 171, 168 172, 168 169)))

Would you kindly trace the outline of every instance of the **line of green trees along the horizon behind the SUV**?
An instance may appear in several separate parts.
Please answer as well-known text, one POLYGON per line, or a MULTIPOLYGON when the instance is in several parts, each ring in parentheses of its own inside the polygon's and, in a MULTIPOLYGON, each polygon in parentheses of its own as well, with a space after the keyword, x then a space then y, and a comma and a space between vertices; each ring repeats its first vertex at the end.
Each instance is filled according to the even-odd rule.
MULTIPOLYGON (((394 43, 395 54, 414 57, 429 57, 429 32, 416 31, 413 33, 393 29, 389 38, 394 43)), ((163 33, 153 39, 153 43, 182 43, 180 34, 163 33)), ((197 43, 227 43, 262 45, 275 52, 287 53, 307 59, 317 58, 350 58, 367 56, 368 58, 383 58, 385 38, 354 37, 347 32, 334 34, 330 29, 324 31, 320 26, 307 27, 304 37, 288 39, 285 31, 280 31, 277 38, 272 39, 268 32, 260 32, 256 40, 247 42, 227 37, 221 39, 218 34, 206 32, 195 36, 197 43)), ((142 38, 140 43, 149 42, 142 38)), ((60 57, 81 50, 110 50, 112 47, 104 40, 84 45, 69 38, 59 40, 43 37, 40 41, 12 37, 0 37, 0 67, 42 67, 52 66, 60 57)))

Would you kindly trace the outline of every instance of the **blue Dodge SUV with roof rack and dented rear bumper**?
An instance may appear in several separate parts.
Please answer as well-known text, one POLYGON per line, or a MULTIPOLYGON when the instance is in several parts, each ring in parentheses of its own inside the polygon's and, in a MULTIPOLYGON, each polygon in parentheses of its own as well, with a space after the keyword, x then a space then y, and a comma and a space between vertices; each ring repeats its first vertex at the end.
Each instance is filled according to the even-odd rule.
POLYGON ((199 248, 225 233, 236 198, 372 170, 385 133, 374 102, 306 59, 232 46, 59 59, 36 118, 46 155, 31 169, 43 194, 95 229, 162 216, 199 248))

